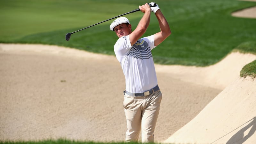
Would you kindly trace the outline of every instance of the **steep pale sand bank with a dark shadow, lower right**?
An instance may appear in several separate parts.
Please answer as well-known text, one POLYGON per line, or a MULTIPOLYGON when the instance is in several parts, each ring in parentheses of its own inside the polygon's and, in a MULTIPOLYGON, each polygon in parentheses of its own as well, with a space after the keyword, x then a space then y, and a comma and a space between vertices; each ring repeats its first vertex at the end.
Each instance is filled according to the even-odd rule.
POLYGON ((237 78, 166 143, 256 143, 256 79, 237 78))

